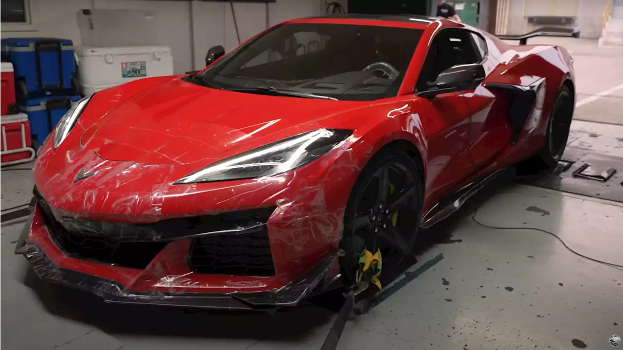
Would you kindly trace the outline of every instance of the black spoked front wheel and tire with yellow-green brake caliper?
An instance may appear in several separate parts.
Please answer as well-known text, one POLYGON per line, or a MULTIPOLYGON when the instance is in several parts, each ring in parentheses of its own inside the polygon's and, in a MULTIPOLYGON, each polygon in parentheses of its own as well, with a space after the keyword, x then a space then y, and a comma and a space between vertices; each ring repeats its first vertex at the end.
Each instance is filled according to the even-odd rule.
POLYGON ((411 253, 422 210, 422 176, 414 160, 396 148, 384 148, 365 166, 346 206, 340 242, 346 255, 341 273, 347 286, 356 283, 359 254, 380 250, 386 285, 411 253))

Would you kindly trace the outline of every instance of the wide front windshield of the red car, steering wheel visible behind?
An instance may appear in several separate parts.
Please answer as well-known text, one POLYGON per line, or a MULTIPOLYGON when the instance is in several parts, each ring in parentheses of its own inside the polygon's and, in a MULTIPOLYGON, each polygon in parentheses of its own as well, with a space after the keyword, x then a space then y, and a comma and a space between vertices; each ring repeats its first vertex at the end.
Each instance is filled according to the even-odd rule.
POLYGON ((421 35, 420 29, 400 27, 284 24, 235 49, 193 81, 308 98, 394 97, 421 35))

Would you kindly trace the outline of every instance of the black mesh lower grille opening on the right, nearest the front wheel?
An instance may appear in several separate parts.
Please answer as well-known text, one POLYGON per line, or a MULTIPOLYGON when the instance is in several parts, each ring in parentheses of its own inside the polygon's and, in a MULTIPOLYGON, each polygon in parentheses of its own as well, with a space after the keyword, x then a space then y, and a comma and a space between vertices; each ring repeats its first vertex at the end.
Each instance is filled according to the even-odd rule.
POLYGON ((214 234, 193 240, 189 265, 197 273, 268 277, 275 275, 266 227, 242 234, 214 234))

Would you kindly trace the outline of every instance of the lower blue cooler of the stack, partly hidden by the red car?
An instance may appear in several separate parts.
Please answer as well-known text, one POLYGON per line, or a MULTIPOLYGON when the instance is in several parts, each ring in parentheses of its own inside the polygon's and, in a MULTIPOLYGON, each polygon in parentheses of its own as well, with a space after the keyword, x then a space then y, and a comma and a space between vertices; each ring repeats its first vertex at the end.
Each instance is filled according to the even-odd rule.
POLYGON ((26 100, 21 108, 31 122, 32 140, 42 145, 72 103, 78 102, 80 98, 80 96, 48 96, 26 100))

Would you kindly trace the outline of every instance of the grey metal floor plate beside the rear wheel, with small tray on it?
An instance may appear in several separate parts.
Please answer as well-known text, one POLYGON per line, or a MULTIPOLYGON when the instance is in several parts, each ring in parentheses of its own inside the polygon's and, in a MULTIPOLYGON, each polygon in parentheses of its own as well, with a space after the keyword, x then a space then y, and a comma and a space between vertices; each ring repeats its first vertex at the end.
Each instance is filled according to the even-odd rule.
POLYGON ((536 187, 623 202, 623 158, 568 147, 556 171, 520 182, 536 187))

